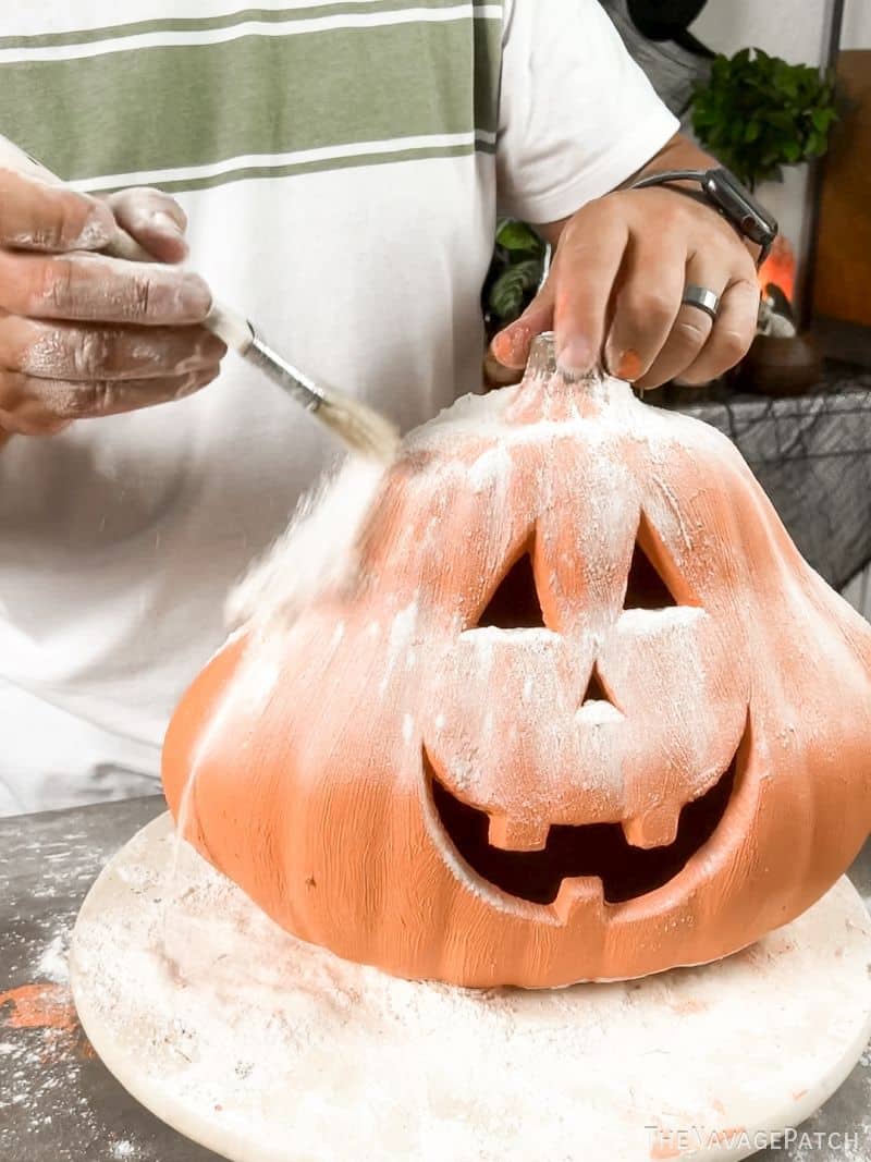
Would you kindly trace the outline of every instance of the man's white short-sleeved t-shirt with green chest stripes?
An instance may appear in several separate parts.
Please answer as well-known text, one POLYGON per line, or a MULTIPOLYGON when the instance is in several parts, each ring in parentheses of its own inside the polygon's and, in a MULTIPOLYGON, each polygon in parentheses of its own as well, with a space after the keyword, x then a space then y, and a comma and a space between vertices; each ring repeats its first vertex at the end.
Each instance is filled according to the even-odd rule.
MULTIPOLYGON (((595 0, 36 0, 0 132, 78 188, 152 185, 189 265, 403 429, 481 386, 498 211, 566 217, 677 123, 595 0), (321 10, 323 9, 323 12, 321 10)), ((228 589, 333 439, 235 356, 178 403, 0 452, 0 812, 157 789, 228 589)))

